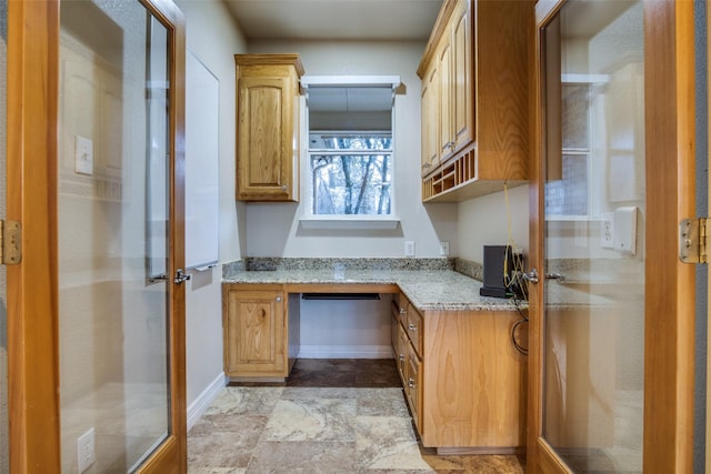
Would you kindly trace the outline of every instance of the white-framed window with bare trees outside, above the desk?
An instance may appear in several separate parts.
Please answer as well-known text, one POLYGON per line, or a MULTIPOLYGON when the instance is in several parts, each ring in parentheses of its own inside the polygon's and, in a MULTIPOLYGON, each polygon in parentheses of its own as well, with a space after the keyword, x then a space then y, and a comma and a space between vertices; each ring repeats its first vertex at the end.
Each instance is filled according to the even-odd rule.
POLYGON ((391 218, 392 77, 302 78, 307 90, 309 203, 304 218, 391 218))

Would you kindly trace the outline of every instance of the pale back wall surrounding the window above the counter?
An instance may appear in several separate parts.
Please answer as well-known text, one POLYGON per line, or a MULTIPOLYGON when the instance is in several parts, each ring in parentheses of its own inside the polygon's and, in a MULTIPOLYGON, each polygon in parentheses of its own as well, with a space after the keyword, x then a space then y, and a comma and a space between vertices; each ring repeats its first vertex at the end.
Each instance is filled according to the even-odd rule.
MULTIPOLYGON (((423 205, 420 181, 420 79, 417 69, 424 42, 257 41, 250 53, 297 52, 307 75, 400 75, 404 92, 394 108, 395 231, 303 230, 299 218, 308 205, 308 165, 302 153, 299 204, 247 205, 248 256, 404 256, 404 241, 415 242, 419 258, 439 255, 440 240, 458 250, 457 206, 423 205)), ((306 143, 302 143, 302 149, 306 143)))

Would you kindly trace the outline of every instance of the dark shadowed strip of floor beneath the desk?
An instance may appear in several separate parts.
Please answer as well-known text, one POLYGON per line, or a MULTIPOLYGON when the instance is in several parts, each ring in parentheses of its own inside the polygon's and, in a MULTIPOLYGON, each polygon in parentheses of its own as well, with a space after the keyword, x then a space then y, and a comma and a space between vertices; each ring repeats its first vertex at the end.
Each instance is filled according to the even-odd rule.
POLYGON ((283 383, 231 382, 231 386, 343 389, 401 387, 394 359, 297 359, 283 383))

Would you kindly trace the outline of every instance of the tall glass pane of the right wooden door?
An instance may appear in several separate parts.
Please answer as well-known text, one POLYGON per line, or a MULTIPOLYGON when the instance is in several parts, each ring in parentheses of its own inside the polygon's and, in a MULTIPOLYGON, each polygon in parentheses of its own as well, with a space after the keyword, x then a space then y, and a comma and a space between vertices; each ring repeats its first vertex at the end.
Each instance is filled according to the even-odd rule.
POLYGON ((574 472, 641 472, 642 2, 567 1, 543 38, 543 434, 574 472))

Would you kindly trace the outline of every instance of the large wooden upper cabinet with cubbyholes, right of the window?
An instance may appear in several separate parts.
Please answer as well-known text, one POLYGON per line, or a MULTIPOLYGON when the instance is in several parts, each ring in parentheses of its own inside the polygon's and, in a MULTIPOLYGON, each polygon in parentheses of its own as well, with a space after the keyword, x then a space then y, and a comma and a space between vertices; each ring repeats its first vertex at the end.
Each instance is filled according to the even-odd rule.
MULTIPOLYGON (((422 200, 455 202, 528 180, 529 58, 534 2, 444 0, 418 69, 440 74, 437 159, 422 150, 422 200)), ((429 139, 428 139, 429 140, 429 139)), ((425 140, 423 139, 423 143, 425 140)))

